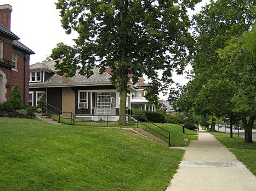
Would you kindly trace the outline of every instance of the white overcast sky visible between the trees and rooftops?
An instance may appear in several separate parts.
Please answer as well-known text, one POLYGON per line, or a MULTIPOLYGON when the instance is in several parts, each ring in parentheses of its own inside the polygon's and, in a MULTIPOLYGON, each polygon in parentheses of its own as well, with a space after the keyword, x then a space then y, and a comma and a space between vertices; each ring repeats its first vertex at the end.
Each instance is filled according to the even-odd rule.
MULTIPOLYGON (((67 35, 61 27, 59 10, 56 10, 56 0, 1 0, 0 4, 9 4, 13 7, 11 31, 18 35, 20 42, 36 52, 31 55, 30 64, 42 62, 56 44, 63 42, 72 45, 75 35, 67 35)), ((196 12, 209 0, 197 4, 196 12)), ((191 12, 192 14, 192 12, 191 12)), ((175 82, 186 84, 184 76, 173 74, 175 82)), ((167 99, 163 96, 161 99, 167 99)))

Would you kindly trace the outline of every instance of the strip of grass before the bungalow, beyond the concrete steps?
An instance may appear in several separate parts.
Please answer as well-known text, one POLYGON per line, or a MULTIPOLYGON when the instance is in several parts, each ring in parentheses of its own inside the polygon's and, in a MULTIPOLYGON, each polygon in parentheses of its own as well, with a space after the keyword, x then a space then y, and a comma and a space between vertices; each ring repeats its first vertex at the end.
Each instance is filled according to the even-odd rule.
MULTIPOLYGON (((54 116, 56 118, 56 116, 54 116)), ((61 122, 70 124, 70 120, 61 119, 61 122)), ((89 127, 106 127, 106 122, 75 122, 78 126, 89 126, 89 127)), ((164 130, 167 130, 167 132, 164 132, 164 130, 161 130, 160 128, 154 126, 153 124, 149 122, 145 122, 146 126, 149 126, 151 129, 156 130, 157 132, 161 133, 162 135, 166 136, 168 138, 168 133, 170 132, 170 143, 173 147, 175 146, 185 146, 184 138, 189 139, 189 142, 186 144, 190 144, 191 140, 197 140, 197 132, 195 130, 189 130, 185 129, 185 134, 182 133, 182 127, 178 126, 177 124, 172 123, 155 123, 157 126, 163 128, 164 130)), ((169 143, 169 139, 164 138, 164 136, 154 132, 153 130, 147 128, 143 124, 139 123, 139 128, 145 130, 146 132, 151 133, 152 135, 155 135, 157 138, 169 143)), ((120 124, 118 123, 108 123, 108 127, 120 127, 120 124)), ((137 123, 128 123, 128 126, 122 126, 122 127, 129 127, 129 128, 137 128, 137 123)))

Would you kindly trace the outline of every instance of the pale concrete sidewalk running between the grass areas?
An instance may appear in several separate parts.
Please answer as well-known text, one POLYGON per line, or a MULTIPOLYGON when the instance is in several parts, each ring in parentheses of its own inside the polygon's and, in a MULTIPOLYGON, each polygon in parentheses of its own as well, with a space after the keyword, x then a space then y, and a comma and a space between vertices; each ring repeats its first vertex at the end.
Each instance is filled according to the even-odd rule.
POLYGON ((256 190, 256 177, 210 133, 200 129, 166 191, 256 190))

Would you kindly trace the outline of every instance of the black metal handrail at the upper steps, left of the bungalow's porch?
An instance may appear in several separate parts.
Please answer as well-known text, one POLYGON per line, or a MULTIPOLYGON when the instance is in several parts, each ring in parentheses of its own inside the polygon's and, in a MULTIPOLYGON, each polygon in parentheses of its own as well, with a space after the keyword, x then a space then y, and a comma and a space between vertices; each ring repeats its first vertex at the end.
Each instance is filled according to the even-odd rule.
POLYGON ((70 124, 75 125, 75 115, 72 112, 63 112, 46 102, 41 102, 41 108, 43 110, 43 113, 50 112, 50 114, 58 116, 58 123, 60 123, 60 118, 62 118, 65 120, 70 120, 70 124), (64 117, 63 114, 69 114, 70 117, 64 117))

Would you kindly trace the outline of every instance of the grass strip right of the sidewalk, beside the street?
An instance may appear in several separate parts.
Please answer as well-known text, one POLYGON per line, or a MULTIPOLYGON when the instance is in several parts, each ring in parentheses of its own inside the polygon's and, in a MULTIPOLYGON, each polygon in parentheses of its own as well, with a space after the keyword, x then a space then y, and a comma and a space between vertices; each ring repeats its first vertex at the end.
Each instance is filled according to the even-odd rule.
POLYGON ((256 175, 256 142, 244 142, 244 138, 222 132, 211 132, 215 138, 225 145, 235 156, 256 175))

